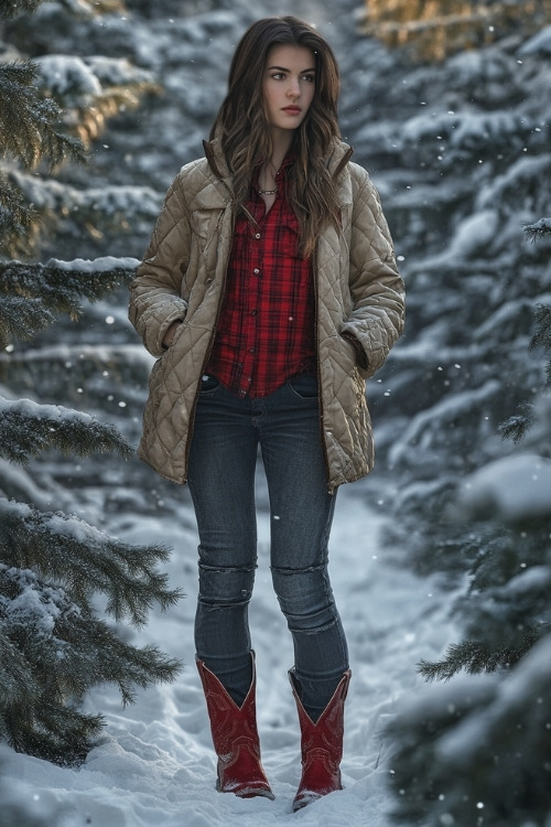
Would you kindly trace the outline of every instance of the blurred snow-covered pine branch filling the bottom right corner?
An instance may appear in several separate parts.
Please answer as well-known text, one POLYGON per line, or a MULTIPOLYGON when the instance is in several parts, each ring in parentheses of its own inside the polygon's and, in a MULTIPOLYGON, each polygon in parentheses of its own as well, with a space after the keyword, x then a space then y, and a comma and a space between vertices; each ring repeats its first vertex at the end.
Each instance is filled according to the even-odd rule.
POLYGON ((507 680, 465 676, 422 698, 408 692, 386 732, 393 821, 548 824, 550 695, 549 634, 507 680))

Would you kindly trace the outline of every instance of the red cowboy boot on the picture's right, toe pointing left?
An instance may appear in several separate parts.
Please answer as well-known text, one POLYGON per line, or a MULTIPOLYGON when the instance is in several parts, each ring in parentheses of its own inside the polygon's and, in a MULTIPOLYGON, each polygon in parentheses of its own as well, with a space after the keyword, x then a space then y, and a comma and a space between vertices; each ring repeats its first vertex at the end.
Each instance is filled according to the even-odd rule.
POLYGON ((333 697, 314 723, 299 698, 293 675, 289 673, 301 726, 302 777, 293 810, 342 790, 339 764, 343 758, 344 702, 350 670, 344 673, 333 697))

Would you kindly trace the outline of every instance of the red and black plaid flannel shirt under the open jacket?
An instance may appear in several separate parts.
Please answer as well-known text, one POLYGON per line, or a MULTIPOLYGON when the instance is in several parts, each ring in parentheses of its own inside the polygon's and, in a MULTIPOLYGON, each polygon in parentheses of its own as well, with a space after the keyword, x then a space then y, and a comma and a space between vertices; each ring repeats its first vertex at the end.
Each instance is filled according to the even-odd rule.
POLYGON ((226 293, 206 372, 238 396, 268 396, 294 374, 315 372, 314 284, 310 259, 298 255, 299 223, 279 193, 266 204, 252 190, 247 216, 236 222, 226 293))

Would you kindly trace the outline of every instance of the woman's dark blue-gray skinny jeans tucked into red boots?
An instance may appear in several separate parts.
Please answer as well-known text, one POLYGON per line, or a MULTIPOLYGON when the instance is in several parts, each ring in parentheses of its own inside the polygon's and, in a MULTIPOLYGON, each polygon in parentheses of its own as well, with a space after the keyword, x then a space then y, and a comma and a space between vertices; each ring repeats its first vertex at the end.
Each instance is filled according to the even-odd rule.
POLYGON ((270 497, 272 582, 293 638, 302 702, 316 720, 348 668, 348 653, 327 574, 335 495, 327 492, 313 376, 295 376, 256 399, 230 394, 214 377, 203 379, 188 476, 199 534, 196 655, 240 705, 251 680, 259 445, 270 497))

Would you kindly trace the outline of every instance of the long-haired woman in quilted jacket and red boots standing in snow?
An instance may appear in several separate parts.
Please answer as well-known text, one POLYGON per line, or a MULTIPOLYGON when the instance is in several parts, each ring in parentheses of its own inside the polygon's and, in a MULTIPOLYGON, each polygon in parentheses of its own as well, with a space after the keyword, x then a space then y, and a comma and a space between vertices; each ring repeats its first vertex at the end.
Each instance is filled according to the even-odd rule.
POLYGON ((403 324, 377 192, 339 140, 338 83, 329 46, 306 23, 250 26, 206 157, 170 187, 130 302, 159 357, 139 453, 162 476, 188 482, 197 518, 195 646, 217 788, 272 798, 247 614, 260 447, 272 580, 294 645, 294 809, 342 788, 350 670, 327 540, 337 486, 372 465, 365 379, 403 324))

